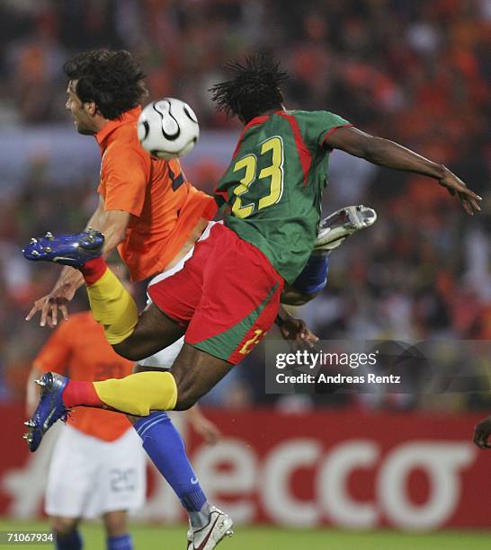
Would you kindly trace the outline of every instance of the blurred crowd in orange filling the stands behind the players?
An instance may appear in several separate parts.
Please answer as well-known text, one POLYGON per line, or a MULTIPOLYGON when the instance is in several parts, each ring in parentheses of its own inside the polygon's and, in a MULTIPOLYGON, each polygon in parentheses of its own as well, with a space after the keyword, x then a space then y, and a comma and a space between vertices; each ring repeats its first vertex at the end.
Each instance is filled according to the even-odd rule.
MULTIPOLYGON (((447 164, 483 196, 479 216, 465 217, 425 178, 379 169, 333 173, 325 214, 346 201, 363 202, 378 210, 379 221, 332 254, 328 287, 300 315, 325 339, 491 340, 489 0, 317 0, 288 9, 279 0, 5 0, 0 120, 26 131, 34 124, 67 124, 60 67, 74 52, 101 46, 138 52, 151 97, 185 98, 209 129, 229 127, 212 111, 207 93, 223 77, 221 67, 245 53, 271 53, 292 77, 288 106, 334 111, 447 164)), ((69 187, 53 187, 42 162, 34 160, 29 176, 2 195, 4 398, 22 398, 47 330, 23 318, 58 273, 24 262, 19 250, 48 228, 83 226, 94 208, 95 176, 79 174, 69 187)), ((199 175, 193 183, 203 186, 199 175)), ((83 297, 76 307, 84 307, 83 297)), ((269 400, 261 357, 247 359, 214 402, 269 400)), ((334 396, 326 402, 353 400, 430 406, 424 398, 389 403, 334 396)), ((468 394, 452 404, 489 406, 489 400, 468 394)))

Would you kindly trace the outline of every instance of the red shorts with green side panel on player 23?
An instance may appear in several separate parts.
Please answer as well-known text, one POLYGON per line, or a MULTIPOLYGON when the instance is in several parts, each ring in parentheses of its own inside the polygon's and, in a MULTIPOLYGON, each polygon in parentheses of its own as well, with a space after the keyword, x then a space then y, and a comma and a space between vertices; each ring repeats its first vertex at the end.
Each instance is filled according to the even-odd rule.
POLYGON ((185 342, 237 364, 269 331, 282 288, 283 279, 258 248, 214 224, 183 269, 147 293, 186 328, 185 342))

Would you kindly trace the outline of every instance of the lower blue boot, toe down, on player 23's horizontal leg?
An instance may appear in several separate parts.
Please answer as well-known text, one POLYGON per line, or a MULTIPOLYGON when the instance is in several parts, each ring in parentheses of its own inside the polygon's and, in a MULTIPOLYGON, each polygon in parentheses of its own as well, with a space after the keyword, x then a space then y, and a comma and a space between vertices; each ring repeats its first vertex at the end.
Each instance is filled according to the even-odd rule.
POLYGON ((36 384, 41 386, 40 403, 31 419, 24 422, 27 433, 23 436, 31 453, 40 446, 44 434, 56 421, 59 419, 67 421, 69 410, 62 398, 67 383, 67 377, 62 377, 55 372, 47 372, 36 380, 36 384))

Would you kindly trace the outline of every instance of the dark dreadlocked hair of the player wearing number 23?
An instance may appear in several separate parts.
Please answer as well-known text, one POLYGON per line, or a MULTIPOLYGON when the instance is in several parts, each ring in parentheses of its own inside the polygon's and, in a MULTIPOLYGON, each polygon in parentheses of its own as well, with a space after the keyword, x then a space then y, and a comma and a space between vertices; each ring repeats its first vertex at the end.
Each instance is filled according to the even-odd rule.
POLYGON ((232 61, 226 68, 232 73, 232 79, 210 88, 217 111, 225 111, 227 117, 237 115, 247 123, 263 112, 281 106, 280 84, 289 76, 279 62, 255 55, 245 58, 243 64, 232 61))

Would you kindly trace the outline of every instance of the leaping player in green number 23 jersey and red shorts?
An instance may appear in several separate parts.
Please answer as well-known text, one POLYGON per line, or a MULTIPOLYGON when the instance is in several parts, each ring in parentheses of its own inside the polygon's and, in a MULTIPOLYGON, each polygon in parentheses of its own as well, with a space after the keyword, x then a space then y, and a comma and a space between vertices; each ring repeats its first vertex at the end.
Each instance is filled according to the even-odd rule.
MULTIPOLYGON (((107 268, 102 235, 40 239, 24 250, 32 260, 67 263, 82 272, 94 316, 123 357, 138 360, 182 335, 185 340, 170 371, 94 383, 45 375, 31 420, 36 437, 77 405, 140 416, 187 409, 244 359, 274 322, 283 287, 302 294, 299 281, 306 279, 302 271, 316 244, 333 149, 424 174, 455 195, 469 215, 480 209, 480 197, 442 164, 372 137, 333 113, 287 111, 280 90, 287 75, 271 59, 248 58, 228 68, 233 76, 212 88, 213 99, 245 128, 216 189, 224 221, 210 222, 183 268, 148 288, 152 304, 144 312, 138 315, 107 268)), ((316 262, 310 269, 314 278, 325 276, 316 262)))

